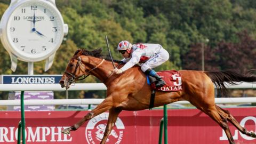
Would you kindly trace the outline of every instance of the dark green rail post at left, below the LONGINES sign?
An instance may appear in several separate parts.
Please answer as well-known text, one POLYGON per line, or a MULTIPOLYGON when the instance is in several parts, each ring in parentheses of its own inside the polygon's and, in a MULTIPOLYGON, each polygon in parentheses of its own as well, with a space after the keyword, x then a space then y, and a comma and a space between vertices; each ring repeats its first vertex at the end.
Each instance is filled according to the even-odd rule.
POLYGON ((18 126, 18 141, 20 143, 20 128, 22 129, 22 144, 26 144, 26 133, 25 133, 25 111, 24 111, 24 91, 20 93, 20 112, 21 112, 21 121, 18 126))

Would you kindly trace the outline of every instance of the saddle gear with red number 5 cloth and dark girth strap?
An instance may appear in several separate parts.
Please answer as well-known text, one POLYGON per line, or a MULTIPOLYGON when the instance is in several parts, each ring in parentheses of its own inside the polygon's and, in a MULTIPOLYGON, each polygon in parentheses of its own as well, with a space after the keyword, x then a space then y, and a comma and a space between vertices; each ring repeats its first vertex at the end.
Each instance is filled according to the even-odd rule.
POLYGON ((156 79, 147 75, 147 83, 151 86, 151 97, 149 103, 149 109, 154 107, 155 93, 156 91, 172 92, 172 91, 182 91, 182 81, 179 71, 177 70, 164 70, 157 72, 159 76, 162 77, 165 82, 164 86, 156 87, 156 79))

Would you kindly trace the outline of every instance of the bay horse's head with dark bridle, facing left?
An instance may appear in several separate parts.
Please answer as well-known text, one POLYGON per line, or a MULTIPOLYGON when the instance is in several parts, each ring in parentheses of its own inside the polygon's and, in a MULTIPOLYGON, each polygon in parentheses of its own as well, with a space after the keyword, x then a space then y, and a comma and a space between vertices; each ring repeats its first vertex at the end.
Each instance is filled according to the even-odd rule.
POLYGON ((60 79, 61 87, 69 88, 70 84, 75 83, 77 80, 81 80, 84 75, 89 75, 91 69, 87 67, 84 62, 89 61, 89 58, 85 56, 98 56, 102 49, 96 49, 94 51, 77 50, 73 57, 69 60, 68 66, 60 79), (82 60, 83 57, 83 60, 82 60))

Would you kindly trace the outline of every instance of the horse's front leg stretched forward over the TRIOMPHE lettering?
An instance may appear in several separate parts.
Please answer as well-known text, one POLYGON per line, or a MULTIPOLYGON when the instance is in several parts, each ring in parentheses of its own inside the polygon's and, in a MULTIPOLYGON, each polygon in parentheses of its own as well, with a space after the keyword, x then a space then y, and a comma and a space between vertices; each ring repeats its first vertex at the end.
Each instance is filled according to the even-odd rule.
POLYGON ((70 131, 77 130, 81 125, 83 125, 86 121, 89 119, 92 119, 93 117, 109 110, 113 107, 113 100, 111 97, 106 98, 104 101, 100 103, 95 109, 93 109, 90 113, 85 115, 80 121, 78 121, 76 124, 68 127, 67 129, 62 130, 62 133, 69 134, 70 131))

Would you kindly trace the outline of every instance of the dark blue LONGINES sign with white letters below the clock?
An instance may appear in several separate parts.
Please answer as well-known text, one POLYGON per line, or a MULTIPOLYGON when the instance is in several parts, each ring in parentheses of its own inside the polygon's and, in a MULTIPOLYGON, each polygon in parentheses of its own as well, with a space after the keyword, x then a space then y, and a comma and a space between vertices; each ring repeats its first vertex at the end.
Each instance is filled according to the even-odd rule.
POLYGON ((57 84, 62 75, 0 75, 0 84, 57 84))

